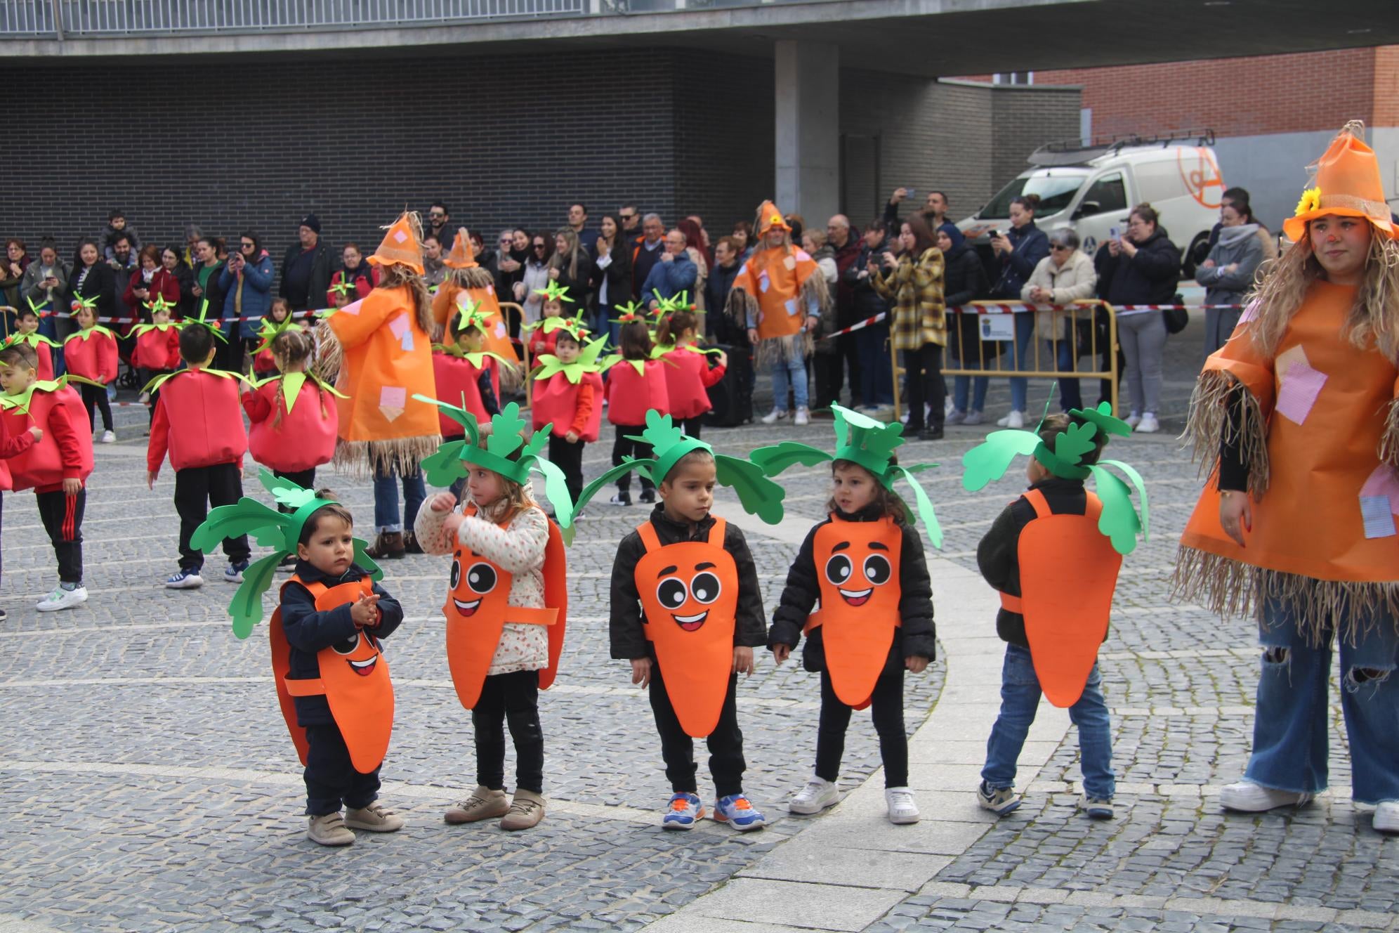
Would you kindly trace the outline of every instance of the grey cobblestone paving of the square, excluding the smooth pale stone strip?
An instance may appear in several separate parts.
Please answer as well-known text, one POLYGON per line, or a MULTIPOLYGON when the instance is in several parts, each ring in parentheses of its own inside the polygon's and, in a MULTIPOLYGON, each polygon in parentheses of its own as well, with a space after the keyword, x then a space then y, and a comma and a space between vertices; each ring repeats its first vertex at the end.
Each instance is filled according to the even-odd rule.
MULTIPOLYGON (((1339 708, 1333 790, 1316 806, 1226 817, 1213 800, 1212 789, 1234 779, 1247 758, 1258 660, 1248 624, 1221 624, 1167 600, 1174 543, 1199 487, 1170 438, 1182 424, 1198 346, 1193 329, 1171 341, 1165 431, 1114 443, 1153 495, 1153 537, 1123 567, 1101 656, 1121 782, 1116 820, 1088 824, 1074 813, 1070 730, 1016 814, 949 852, 926 884, 893 898, 873 922, 842 922, 835 905, 828 919, 792 927, 697 920, 688 929, 1392 926, 1399 841, 1377 836, 1368 809, 1349 800, 1339 708)), ((1042 404, 1046 390, 1035 383, 1032 399, 1042 404)), ((1086 394, 1095 393, 1086 386, 1086 394)), ((1004 403, 1004 389, 993 387, 988 414, 999 415, 1004 403)), ((410 557, 389 564, 385 581, 407 621, 388 643, 399 715, 383 769, 383 800, 409 827, 361 835, 344 850, 315 846, 304 835, 299 769, 273 699, 262 629, 246 642, 232 638, 224 613, 232 586, 222 581, 182 593, 159 586, 175 568, 172 476, 166 470, 148 492, 144 410, 120 408, 118 421, 120 442, 99 446, 91 484, 84 607, 34 611, 53 586, 52 550, 32 498, 6 497, 0 930, 635 930, 820 825, 786 818, 783 809, 810 768, 816 678, 799 664, 774 669, 764 656, 740 685, 740 716, 747 789, 772 825, 748 835, 715 824, 691 834, 659 829, 669 788, 649 708, 606 646, 616 543, 644 512, 597 502, 569 551, 562 673, 540 702, 551 800, 541 827, 506 835, 441 822, 442 809, 474 783, 470 727, 442 660, 445 562, 410 557)), ((706 439, 730 452, 774 436, 825 445, 827 425, 713 429, 706 439)), ((961 491, 960 457, 981 434, 950 428, 946 441, 912 445, 908 455, 944 464, 923 476, 946 532, 942 557, 961 568, 975 567, 977 541, 1017 491, 1009 478, 975 495, 961 491)), ((589 476, 602 470, 607 446, 589 449, 589 476)), ((371 519, 365 483, 334 474, 322 481, 362 523, 371 519)), ((818 469, 796 471, 788 511, 814 522, 824 483, 818 469)), ((737 511, 730 494, 720 494, 719 511, 737 511)), ((790 537, 748 533, 768 607, 796 550, 790 537)), ((933 561, 935 597, 937 568, 933 561)), ((211 555, 206 569, 217 578, 221 557, 211 555)), ((949 625, 993 625, 958 617, 956 606, 940 604, 939 615, 944 634, 949 625)), ((911 732, 946 673, 939 660, 908 678, 911 732)), ((842 783, 855 786, 877 767, 862 713, 842 783)), ((967 767, 968 790, 975 771, 967 767)), ((937 806, 937 795, 923 799, 925 813, 937 806)), ((834 873, 838 883, 839 867, 834 873)), ((848 891, 855 898, 860 890, 848 891)))

